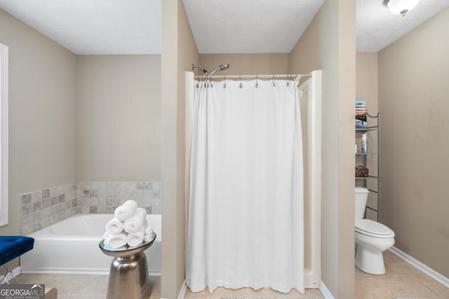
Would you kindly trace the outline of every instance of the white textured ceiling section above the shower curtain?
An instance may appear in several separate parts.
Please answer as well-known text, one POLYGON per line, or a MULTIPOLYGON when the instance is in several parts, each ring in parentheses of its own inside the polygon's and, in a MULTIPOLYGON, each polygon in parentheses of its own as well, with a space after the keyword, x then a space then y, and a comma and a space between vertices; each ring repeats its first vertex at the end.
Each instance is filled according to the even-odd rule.
POLYGON ((324 0, 184 0, 199 53, 290 53, 324 0))

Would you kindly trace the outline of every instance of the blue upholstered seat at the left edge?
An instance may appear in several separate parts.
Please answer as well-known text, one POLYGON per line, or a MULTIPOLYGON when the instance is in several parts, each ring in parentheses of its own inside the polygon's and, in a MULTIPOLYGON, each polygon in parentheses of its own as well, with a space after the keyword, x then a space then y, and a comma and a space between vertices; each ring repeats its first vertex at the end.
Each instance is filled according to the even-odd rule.
POLYGON ((0 265, 33 249, 34 239, 22 236, 0 236, 0 265))

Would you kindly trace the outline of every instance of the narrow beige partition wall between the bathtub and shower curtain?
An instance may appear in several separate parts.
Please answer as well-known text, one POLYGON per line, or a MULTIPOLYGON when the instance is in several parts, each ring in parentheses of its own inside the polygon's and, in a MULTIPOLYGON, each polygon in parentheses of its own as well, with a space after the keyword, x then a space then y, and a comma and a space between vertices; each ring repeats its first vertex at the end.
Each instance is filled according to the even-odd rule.
POLYGON ((199 63, 182 0, 162 2, 161 297, 176 298, 185 279, 185 74, 199 63))

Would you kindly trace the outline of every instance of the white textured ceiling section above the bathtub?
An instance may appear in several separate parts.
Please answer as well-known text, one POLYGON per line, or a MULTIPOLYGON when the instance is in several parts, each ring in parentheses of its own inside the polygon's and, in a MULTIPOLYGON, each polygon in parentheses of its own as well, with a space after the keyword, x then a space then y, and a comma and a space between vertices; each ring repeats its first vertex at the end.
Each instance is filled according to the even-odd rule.
POLYGON ((161 53, 161 0, 0 0, 75 54, 161 53))

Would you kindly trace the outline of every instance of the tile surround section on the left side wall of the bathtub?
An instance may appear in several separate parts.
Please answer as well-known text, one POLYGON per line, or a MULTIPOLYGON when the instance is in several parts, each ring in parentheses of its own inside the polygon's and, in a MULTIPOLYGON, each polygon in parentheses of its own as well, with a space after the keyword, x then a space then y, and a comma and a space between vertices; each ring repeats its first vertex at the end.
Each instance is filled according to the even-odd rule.
POLYGON ((61 221, 78 212, 76 183, 20 195, 22 235, 61 221))

